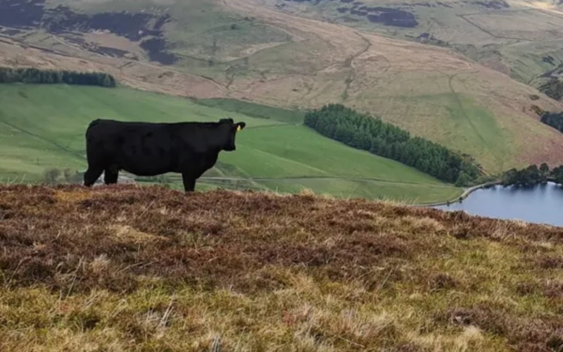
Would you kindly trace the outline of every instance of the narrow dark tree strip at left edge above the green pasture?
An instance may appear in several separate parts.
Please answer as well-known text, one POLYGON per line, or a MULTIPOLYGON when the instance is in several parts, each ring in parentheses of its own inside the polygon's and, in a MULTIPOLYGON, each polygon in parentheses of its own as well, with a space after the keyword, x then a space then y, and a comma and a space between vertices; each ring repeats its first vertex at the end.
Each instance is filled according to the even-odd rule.
POLYGON ((113 88, 115 77, 100 72, 39 70, 37 68, 0 68, 0 83, 77 84, 113 88))

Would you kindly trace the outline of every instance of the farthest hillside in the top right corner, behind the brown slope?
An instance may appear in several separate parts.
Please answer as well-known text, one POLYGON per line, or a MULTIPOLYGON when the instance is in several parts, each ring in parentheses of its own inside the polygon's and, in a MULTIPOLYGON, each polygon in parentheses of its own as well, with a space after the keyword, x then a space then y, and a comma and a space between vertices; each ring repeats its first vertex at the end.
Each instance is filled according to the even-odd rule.
POLYGON ((320 0, 284 1, 280 6, 275 0, 261 0, 260 4, 447 47, 526 84, 563 62, 563 4, 559 1, 320 0))

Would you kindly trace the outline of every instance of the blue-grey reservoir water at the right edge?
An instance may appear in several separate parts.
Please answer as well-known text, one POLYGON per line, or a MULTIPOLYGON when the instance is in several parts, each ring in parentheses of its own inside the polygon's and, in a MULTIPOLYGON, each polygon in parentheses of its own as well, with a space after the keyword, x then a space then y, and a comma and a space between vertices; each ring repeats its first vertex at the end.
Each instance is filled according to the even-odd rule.
POLYGON ((552 182, 532 187, 493 186, 477 189, 462 203, 434 208, 464 210, 487 218, 563 226, 563 187, 552 182))

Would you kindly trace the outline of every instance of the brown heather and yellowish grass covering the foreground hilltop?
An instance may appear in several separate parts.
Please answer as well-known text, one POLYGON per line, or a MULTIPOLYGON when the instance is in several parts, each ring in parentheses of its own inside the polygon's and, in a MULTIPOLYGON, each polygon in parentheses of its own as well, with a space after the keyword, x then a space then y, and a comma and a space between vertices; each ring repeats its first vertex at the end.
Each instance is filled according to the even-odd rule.
POLYGON ((0 244, 0 351, 563 351, 563 228, 12 185, 0 244))

